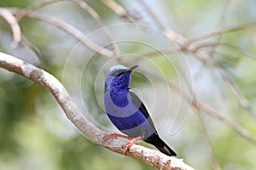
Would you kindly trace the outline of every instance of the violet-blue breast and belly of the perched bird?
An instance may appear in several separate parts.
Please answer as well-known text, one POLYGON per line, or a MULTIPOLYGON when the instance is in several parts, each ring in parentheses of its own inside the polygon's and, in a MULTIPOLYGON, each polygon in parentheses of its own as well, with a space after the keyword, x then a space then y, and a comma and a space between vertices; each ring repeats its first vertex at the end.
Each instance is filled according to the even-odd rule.
POLYGON ((133 103, 129 93, 121 95, 106 92, 104 98, 109 119, 122 133, 133 138, 149 137, 155 133, 148 117, 133 103))

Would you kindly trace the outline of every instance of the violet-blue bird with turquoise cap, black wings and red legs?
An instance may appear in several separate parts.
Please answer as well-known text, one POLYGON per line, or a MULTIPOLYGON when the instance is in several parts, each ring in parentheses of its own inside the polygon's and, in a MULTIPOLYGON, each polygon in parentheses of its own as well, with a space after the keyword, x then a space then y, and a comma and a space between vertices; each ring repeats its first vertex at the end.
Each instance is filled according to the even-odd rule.
POLYGON ((124 144, 126 151, 128 151, 132 144, 137 144, 137 140, 142 139, 149 144, 153 144, 167 156, 177 156, 160 139, 142 100, 129 88, 131 71, 137 66, 135 65, 128 69, 124 65, 115 65, 108 72, 104 94, 106 112, 114 126, 127 136, 111 133, 106 135, 104 140, 117 137, 130 139, 127 144, 124 144))

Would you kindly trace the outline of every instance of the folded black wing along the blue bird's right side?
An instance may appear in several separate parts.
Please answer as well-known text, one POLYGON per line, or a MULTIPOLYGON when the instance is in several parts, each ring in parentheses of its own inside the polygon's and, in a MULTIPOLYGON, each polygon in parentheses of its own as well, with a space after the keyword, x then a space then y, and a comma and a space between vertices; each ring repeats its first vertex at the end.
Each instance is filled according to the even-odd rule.
MULTIPOLYGON (((143 115, 147 117, 148 122, 150 122, 151 126, 154 127, 154 123, 153 123, 151 117, 149 116, 148 111, 147 111, 145 105, 143 104, 143 101, 142 101, 141 99, 139 99, 139 98, 137 97, 137 94, 134 94, 134 92, 132 92, 131 90, 129 90, 129 94, 131 95, 132 102, 133 102, 135 105, 137 105, 137 107, 138 107, 141 111, 143 111, 143 115)), ((154 127, 154 129, 155 129, 155 127, 154 127)))

